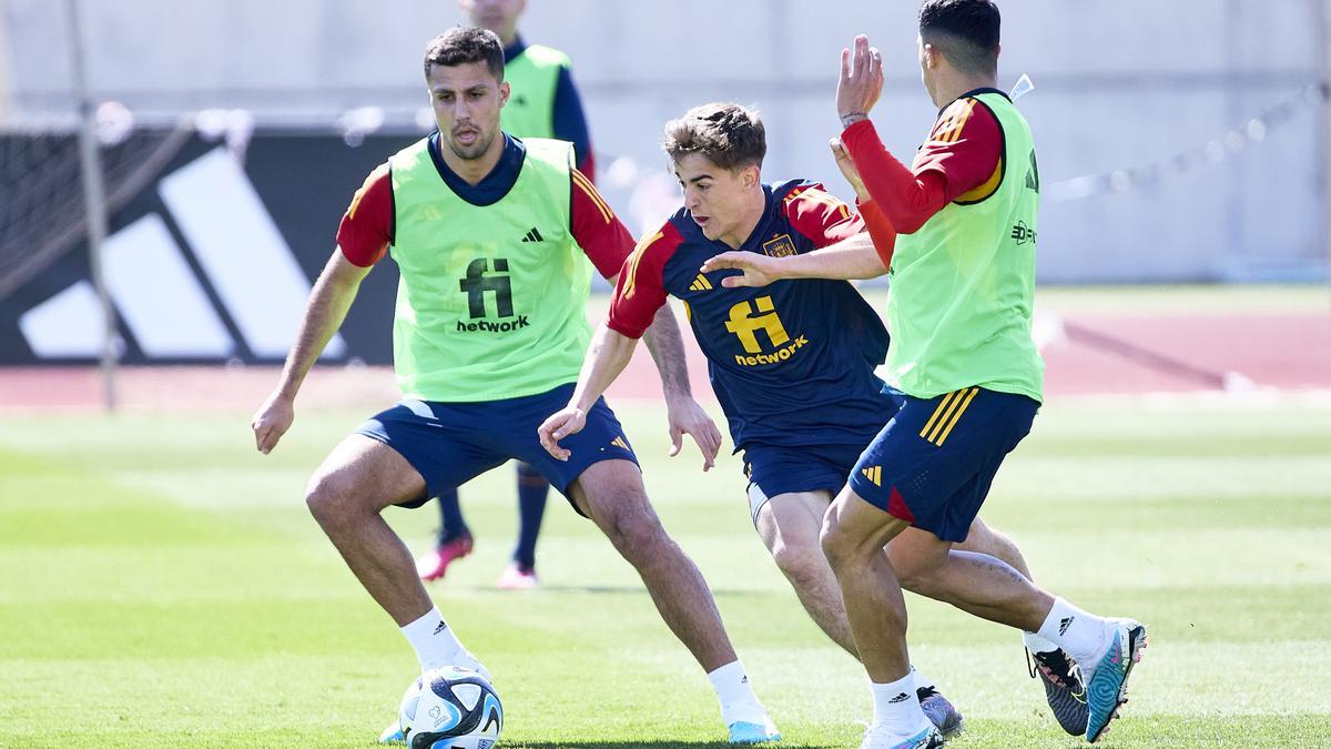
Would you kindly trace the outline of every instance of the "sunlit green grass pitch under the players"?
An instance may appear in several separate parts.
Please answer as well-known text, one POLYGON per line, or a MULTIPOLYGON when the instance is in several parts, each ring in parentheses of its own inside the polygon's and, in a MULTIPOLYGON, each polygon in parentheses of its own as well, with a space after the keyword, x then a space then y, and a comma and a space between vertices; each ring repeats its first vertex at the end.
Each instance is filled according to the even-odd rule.
MULTIPOLYGON (((1054 404, 985 509, 1037 577, 1153 626, 1107 746, 1331 745, 1331 406, 1054 404), (1075 556, 1073 556, 1075 554, 1075 556)), ((367 409, 366 409, 367 410, 367 409)), ((847 746, 857 665, 748 522, 735 458, 664 457, 626 406, 667 528, 703 568, 789 746, 847 746)), ((302 413, 269 457, 245 414, 0 421, 0 746, 369 746, 414 657, 302 488, 361 410, 302 413)), ((511 469, 463 490, 473 557, 433 586, 494 670, 506 746, 713 746, 696 665, 632 569, 555 497, 543 588, 500 593, 511 469)), ((433 512, 390 512, 417 549, 433 512)), ((1009 630, 910 598, 913 660, 966 713, 956 746, 1075 746, 1009 630)))

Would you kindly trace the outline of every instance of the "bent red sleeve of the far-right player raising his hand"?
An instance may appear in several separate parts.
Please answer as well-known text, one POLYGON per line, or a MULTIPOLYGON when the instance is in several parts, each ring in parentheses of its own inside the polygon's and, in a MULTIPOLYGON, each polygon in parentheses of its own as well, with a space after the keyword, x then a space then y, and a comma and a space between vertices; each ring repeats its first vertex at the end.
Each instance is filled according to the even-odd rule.
POLYGON ((847 128, 841 141, 873 203, 900 233, 918 231, 954 200, 988 197, 1002 175, 998 120, 974 99, 957 100, 938 117, 913 169, 888 152, 868 120, 847 128))

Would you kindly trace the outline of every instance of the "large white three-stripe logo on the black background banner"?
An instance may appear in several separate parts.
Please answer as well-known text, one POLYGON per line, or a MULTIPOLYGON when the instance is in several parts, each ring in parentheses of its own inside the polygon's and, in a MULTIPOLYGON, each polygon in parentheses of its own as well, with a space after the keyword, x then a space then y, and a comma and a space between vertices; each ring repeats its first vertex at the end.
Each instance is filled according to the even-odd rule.
MULTIPOLYGON (((156 192, 165 211, 120 228, 102 248, 120 329, 149 361, 218 361, 246 349, 281 361, 310 280, 240 161, 214 148, 161 177, 156 192)), ((85 279, 24 312, 19 329, 39 360, 96 359, 102 323, 85 279)), ((335 335, 322 357, 346 355, 335 335)))

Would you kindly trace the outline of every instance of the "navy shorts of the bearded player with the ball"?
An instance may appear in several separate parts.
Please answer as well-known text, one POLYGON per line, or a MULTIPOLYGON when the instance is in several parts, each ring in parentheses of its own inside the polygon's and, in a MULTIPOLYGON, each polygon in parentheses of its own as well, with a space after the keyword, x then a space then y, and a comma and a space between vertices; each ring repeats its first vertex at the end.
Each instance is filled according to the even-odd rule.
POLYGON ((582 432, 559 441, 572 453, 567 461, 555 460, 540 446, 536 428, 568 405, 572 392, 574 385, 567 384, 535 396, 496 401, 403 400, 370 417, 355 433, 398 450, 425 478, 426 494, 399 506, 418 508, 510 458, 530 462, 551 486, 568 497, 568 485, 594 462, 638 462, 606 398, 598 398, 587 412, 582 432))

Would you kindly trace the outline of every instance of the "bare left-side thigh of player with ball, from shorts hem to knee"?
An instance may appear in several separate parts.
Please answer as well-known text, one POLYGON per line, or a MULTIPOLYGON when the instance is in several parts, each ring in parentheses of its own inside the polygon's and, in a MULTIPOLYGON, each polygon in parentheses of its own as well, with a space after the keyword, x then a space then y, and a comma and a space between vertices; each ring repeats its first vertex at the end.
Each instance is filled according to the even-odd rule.
POLYGON ((306 494, 311 505, 353 505, 377 512, 421 498, 425 490, 425 478, 402 453, 353 433, 323 458, 306 494))

